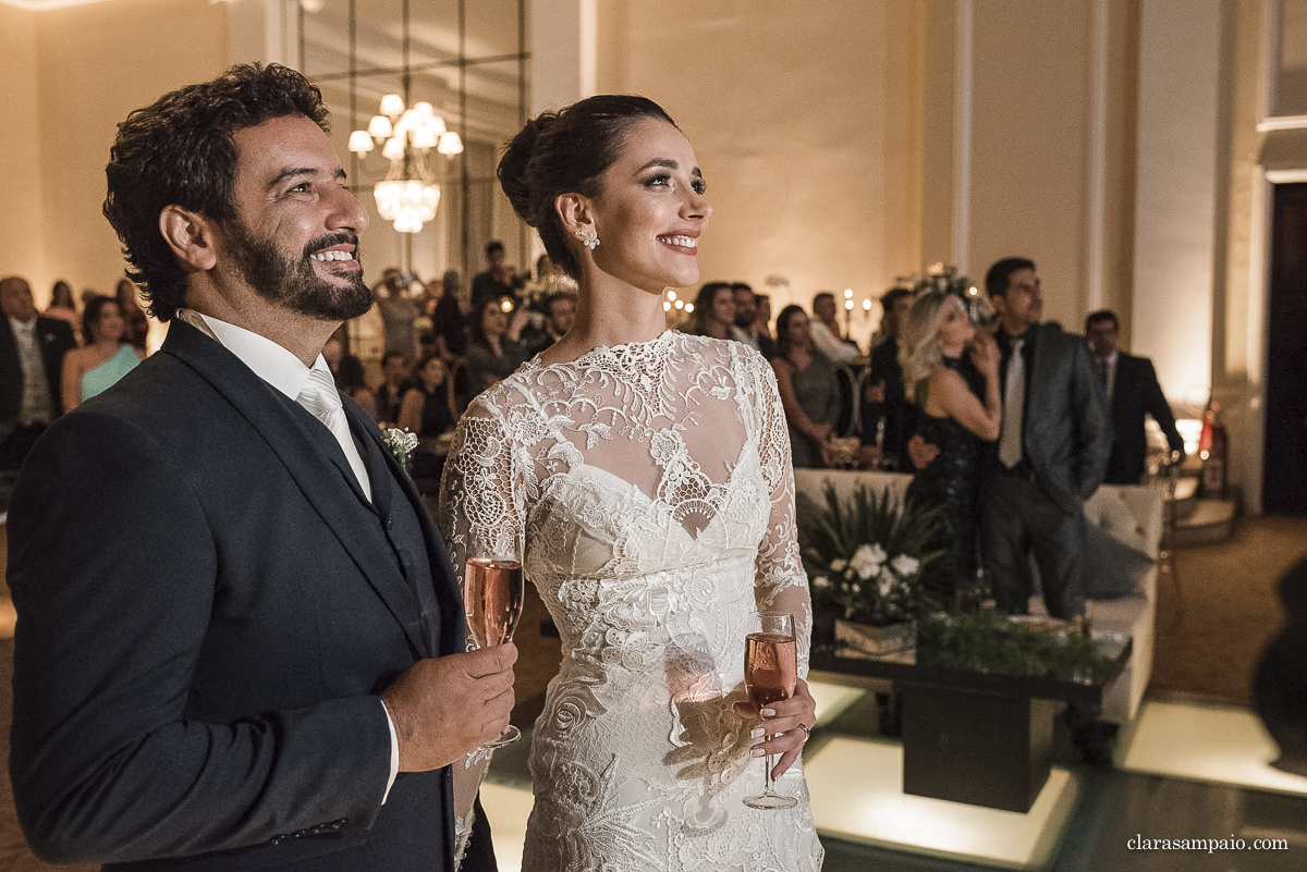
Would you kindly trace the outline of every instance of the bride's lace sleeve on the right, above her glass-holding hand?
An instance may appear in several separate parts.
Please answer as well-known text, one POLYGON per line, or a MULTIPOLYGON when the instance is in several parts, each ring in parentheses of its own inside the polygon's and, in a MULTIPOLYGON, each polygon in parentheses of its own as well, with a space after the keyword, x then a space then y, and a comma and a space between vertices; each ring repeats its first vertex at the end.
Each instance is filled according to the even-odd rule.
POLYGON ((758 453, 762 474, 771 495, 767 533, 758 543, 755 563, 758 608, 786 611, 795 616, 799 637, 799 672, 808 675, 812 641, 812 598, 808 576, 799 559, 799 531, 795 522, 795 467, 789 459, 789 432, 780 405, 776 376, 761 356, 754 359, 753 385, 758 422, 758 453))

